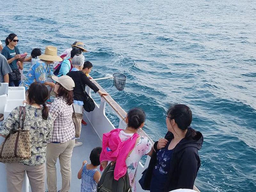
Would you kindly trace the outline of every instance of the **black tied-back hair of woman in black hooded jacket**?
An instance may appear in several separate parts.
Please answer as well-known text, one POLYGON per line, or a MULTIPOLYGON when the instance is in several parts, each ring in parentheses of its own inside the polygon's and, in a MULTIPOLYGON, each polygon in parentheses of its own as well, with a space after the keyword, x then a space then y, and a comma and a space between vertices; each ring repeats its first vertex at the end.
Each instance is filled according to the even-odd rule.
POLYGON ((178 127, 185 131, 188 129, 185 138, 191 139, 196 135, 196 131, 190 127, 192 122, 192 111, 186 105, 174 104, 167 111, 167 117, 174 119, 178 127))

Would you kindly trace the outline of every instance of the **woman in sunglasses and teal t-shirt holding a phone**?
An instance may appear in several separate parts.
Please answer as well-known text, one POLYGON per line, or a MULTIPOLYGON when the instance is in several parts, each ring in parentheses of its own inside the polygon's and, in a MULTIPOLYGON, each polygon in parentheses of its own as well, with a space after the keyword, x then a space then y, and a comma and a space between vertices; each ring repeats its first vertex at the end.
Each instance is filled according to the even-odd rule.
POLYGON ((12 69, 12 73, 9 74, 9 86, 10 87, 17 87, 20 84, 20 71, 18 69, 18 66, 20 70, 23 69, 23 62, 27 56, 27 52, 25 52, 25 56, 20 55, 20 50, 17 47, 17 44, 19 42, 19 39, 16 34, 11 33, 8 37, 5 39, 6 46, 4 47, 2 51, 2 55, 7 59, 8 64, 10 65, 12 69))

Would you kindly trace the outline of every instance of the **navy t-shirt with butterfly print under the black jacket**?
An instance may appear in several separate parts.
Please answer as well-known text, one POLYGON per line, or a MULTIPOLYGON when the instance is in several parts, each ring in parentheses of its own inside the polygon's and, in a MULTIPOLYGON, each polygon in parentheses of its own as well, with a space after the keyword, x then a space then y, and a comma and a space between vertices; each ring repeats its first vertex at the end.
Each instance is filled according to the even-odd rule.
POLYGON ((150 183, 150 192, 163 192, 166 184, 168 174, 171 169, 172 150, 168 150, 170 141, 165 148, 157 152, 157 161, 153 169, 152 179, 150 183))

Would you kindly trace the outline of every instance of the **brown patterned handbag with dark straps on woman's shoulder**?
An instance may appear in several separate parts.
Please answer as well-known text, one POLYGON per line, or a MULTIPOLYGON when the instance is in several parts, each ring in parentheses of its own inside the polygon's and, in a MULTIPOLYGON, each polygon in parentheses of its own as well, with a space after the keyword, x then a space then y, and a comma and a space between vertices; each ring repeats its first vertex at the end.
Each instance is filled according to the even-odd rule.
POLYGON ((20 118, 18 131, 11 132, 0 145, 0 162, 10 163, 17 162, 31 157, 31 143, 29 131, 24 130, 26 110, 20 106, 20 118), (23 117, 21 122, 21 114, 23 109, 23 117), (20 127, 22 124, 22 127, 20 127))

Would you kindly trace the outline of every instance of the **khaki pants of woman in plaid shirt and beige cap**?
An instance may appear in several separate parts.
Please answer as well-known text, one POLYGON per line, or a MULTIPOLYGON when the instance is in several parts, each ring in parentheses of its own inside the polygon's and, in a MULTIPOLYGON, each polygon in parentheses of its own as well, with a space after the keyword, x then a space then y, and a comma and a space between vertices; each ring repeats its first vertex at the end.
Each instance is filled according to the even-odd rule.
POLYGON ((71 182, 71 156, 75 140, 66 143, 48 143, 46 151, 47 186, 49 192, 57 192, 56 162, 59 158, 62 188, 60 192, 69 192, 71 182))

